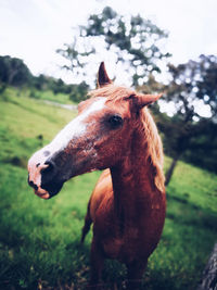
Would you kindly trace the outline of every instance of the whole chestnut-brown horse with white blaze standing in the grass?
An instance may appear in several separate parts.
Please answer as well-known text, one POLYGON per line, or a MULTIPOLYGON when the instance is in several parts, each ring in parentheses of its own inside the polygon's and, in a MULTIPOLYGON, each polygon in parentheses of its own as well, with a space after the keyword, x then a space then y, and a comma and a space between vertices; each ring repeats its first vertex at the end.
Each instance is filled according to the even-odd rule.
POLYGON ((90 286, 98 285, 104 259, 126 264, 136 289, 156 248, 165 219, 163 149, 146 105, 161 96, 116 87, 104 63, 99 88, 79 104, 78 116, 28 163, 29 185, 42 199, 56 194, 71 177, 105 169, 90 198, 82 229, 91 223, 90 286))

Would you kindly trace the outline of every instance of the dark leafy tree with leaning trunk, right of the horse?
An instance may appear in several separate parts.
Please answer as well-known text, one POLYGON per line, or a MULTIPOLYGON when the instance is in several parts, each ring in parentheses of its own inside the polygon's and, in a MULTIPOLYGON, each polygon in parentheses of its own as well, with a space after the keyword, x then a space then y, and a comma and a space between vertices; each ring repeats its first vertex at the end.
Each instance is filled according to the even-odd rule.
MULTIPOLYGON (((186 154, 192 161, 189 150, 192 149, 195 153, 196 149, 199 150, 196 143, 200 143, 200 150, 202 147, 205 150, 210 138, 213 143, 217 142, 214 142, 217 135, 217 59, 213 55, 201 55, 197 62, 169 65, 169 72, 171 81, 165 87, 165 96, 167 102, 174 102, 176 114, 170 121, 162 116, 158 122, 159 129, 165 135, 167 153, 173 156, 166 174, 166 185, 181 156, 186 154), (205 141, 204 137, 202 138, 204 135, 205 141), (203 142, 199 142, 201 138, 203 142)), ((204 152, 207 153, 206 150, 204 152)), ((208 153, 216 155, 214 148, 208 153)))

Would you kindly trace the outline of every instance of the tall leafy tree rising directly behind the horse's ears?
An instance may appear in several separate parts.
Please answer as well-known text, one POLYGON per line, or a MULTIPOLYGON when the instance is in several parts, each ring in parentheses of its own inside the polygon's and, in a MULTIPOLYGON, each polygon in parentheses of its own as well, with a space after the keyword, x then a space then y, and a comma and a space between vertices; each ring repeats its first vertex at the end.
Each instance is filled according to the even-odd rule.
POLYGON ((79 73, 79 68, 85 71, 90 54, 101 54, 98 50, 106 49, 116 62, 130 70, 132 84, 137 86, 150 73, 161 72, 159 60, 170 55, 161 51, 161 41, 166 37, 167 33, 151 21, 140 15, 118 15, 106 7, 102 13, 90 15, 87 26, 79 26, 79 37, 58 52, 67 59, 66 68, 79 73))

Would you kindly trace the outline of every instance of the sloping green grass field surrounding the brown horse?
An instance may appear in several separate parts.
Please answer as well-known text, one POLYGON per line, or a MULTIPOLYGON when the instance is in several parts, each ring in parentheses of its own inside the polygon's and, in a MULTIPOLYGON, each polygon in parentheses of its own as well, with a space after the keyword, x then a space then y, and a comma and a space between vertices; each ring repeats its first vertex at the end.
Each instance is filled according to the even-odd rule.
MULTIPOLYGON (((49 201, 37 198, 27 185, 27 160, 76 112, 22 96, 14 89, 0 96, 0 289, 86 289, 91 232, 84 245, 79 239, 100 173, 69 180, 49 201)), ((195 289, 216 241, 216 175, 179 162, 167 201, 163 237, 143 285, 195 289)), ((122 289, 125 275, 123 265, 107 261, 105 289, 122 289)))

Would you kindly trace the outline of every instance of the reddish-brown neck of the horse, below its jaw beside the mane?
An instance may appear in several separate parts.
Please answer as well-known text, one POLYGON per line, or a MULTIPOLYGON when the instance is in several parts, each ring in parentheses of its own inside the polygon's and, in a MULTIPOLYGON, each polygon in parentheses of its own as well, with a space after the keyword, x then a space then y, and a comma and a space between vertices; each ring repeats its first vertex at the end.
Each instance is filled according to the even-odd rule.
POLYGON ((114 209, 125 222, 138 218, 138 211, 148 213, 149 206, 152 206, 152 197, 157 190, 154 186, 154 169, 146 156, 146 146, 142 138, 137 134, 126 157, 111 168, 114 209))

